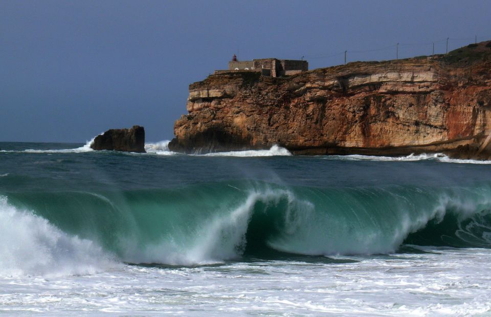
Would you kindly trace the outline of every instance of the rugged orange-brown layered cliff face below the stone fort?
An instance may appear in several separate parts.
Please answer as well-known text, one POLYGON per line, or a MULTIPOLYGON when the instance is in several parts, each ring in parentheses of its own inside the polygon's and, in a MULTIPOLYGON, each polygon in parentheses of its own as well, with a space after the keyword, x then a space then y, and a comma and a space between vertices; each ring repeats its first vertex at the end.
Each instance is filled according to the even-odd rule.
MULTIPOLYGON (((211 75, 189 86, 173 151, 294 154, 477 152, 491 132, 491 44, 434 57, 354 62, 286 78, 211 75)), ((489 146, 491 148, 491 146, 489 146)))

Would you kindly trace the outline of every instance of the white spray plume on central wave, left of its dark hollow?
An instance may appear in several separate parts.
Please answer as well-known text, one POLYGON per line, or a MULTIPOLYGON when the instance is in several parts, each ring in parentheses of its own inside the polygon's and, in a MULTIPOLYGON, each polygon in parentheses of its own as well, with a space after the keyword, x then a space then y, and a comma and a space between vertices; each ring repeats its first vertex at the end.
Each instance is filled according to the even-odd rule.
MULTIPOLYGON (((242 191, 235 186, 228 187, 242 191)), ((139 263, 171 265, 211 264, 240 259, 251 242, 248 241, 247 233, 253 213, 266 212, 265 209, 257 208, 258 203, 267 207, 277 206, 283 196, 290 195, 291 192, 285 190, 250 190, 244 200, 236 204, 220 206, 217 203, 217 209, 208 219, 203 217, 195 223, 191 235, 190 232, 178 229, 179 224, 176 223, 168 239, 141 248, 137 255, 126 254, 125 258, 139 263), (186 237, 185 243, 183 236, 186 237)))

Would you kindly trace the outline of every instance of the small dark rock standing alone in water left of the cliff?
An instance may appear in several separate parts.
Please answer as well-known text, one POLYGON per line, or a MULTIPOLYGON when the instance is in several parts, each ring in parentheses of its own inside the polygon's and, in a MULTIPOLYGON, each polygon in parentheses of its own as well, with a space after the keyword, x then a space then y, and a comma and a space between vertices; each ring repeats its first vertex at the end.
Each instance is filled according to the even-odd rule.
POLYGON ((109 129, 97 135, 91 144, 94 150, 115 150, 145 153, 145 129, 134 125, 130 129, 109 129))

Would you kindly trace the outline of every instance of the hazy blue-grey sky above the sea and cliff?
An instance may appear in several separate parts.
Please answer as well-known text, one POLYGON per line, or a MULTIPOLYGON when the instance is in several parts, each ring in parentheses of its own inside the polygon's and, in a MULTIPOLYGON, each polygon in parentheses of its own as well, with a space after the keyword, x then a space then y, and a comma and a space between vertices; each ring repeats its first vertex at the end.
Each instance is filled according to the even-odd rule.
POLYGON ((239 60, 309 69, 491 39, 491 1, 0 1, 0 141, 169 140, 188 85, 239 60))

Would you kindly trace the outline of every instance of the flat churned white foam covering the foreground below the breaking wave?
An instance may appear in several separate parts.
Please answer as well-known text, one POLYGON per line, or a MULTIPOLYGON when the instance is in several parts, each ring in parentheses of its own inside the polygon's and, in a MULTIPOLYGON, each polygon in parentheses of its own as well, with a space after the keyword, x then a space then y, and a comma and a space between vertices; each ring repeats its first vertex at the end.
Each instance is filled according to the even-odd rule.
POLYGON ((0 279, 0 313, 25 315, 488 315, 486 249, 344 257, 355 263, 248 261, 125 265, 92 276, 0 279))

